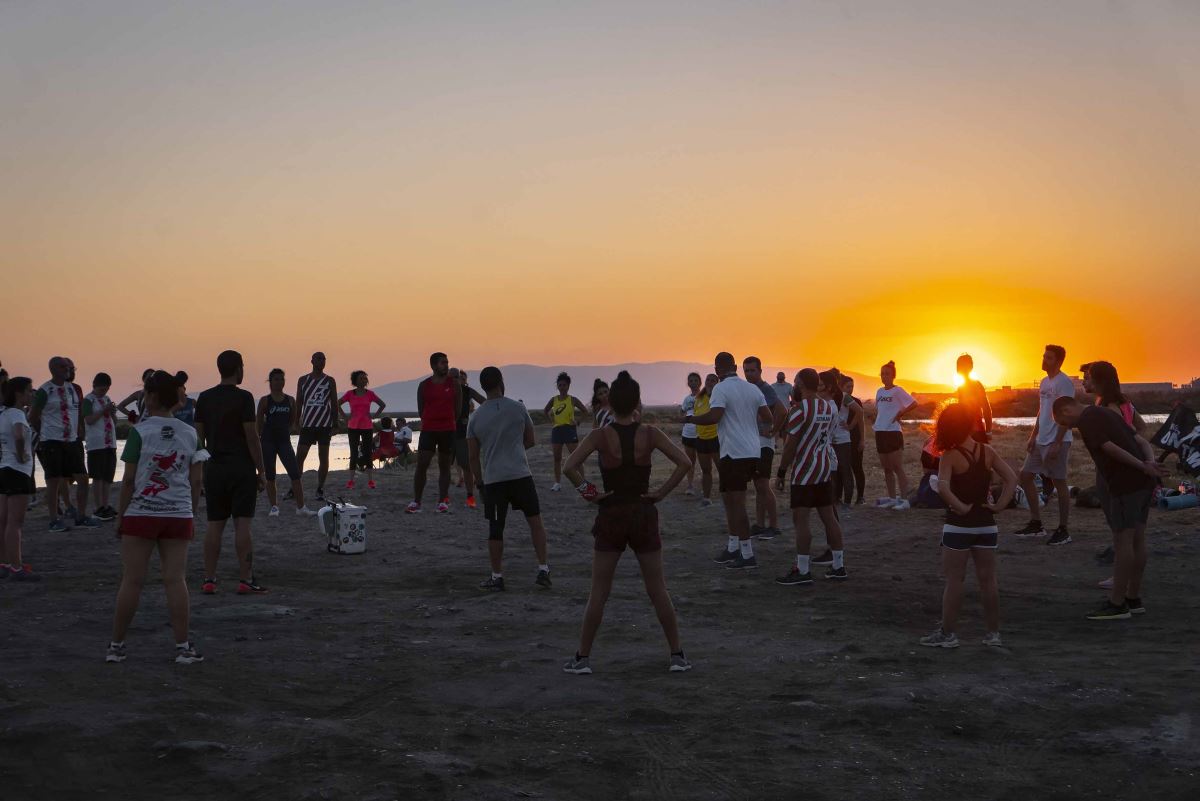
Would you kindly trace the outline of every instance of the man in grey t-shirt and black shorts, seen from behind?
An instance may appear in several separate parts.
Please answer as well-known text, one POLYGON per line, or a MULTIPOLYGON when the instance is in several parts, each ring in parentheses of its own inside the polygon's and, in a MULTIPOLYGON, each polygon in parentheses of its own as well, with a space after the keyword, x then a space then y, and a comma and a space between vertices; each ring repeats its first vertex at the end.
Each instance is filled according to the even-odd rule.
POLYGON ((504 589, 504 522, 509 507, 523 512, 529 523, 529 536, 538 555, 538 586, 550 586, 550 564, 546 560, 546 526, 541 523, 538 488, 533 483, 526 451, 536 440, 533 420, 526 408, 504 397, 504 377, 496 367, 485 367, 479 385, 487 399, 467 422, 467 450, 470 470, 481 477, 484 517, 487 518, 487 553, 492 576, 480 583, 481 590, 504 589))

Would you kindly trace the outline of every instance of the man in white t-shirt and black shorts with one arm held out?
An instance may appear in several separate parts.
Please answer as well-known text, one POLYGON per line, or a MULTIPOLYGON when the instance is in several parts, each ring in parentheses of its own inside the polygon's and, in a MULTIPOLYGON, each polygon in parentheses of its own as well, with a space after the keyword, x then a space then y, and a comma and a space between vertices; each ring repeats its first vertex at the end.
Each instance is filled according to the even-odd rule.
POLYGON ((762 391, 738 378, 738 363, 732 355, 725 351, 716 354, 714 366, 721 380, 713 389, 709 410, 691 421, 697 426, 716 423, 721 444, 716 472, 730 534, 715 561, 734 570, 750 570, 758 567, 758 562, 750 542, 746 484, 762 456, 758 426, 772 424, 774 418, 762 391))

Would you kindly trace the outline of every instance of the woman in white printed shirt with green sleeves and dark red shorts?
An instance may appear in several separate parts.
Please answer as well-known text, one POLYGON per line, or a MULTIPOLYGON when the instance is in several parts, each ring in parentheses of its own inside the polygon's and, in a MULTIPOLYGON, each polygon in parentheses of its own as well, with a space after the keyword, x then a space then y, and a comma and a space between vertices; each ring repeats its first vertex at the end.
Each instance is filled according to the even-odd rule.
POLYGON ((188 640, 187 544, 192 518, 200 499, 202 463, 206 451, 197 448, 196 429, 176 420, 179 383, 156 371, 146 383, 145 416, 125 440, 121 462, 121 498, 118 531, 121 535, 121 588, 116 591, 113 639, 106 662, 125 661, 125 633, 133 622, 145 583, 150 555, 157 550, 167 613, 175 634, 175 662, 192 664, 204 657, 188 640))

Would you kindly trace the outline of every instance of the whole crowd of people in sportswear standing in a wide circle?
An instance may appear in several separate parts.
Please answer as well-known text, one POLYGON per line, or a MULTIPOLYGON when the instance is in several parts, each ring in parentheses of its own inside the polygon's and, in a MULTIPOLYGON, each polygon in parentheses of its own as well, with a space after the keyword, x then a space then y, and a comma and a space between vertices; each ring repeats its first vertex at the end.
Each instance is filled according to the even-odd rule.
MULTIPOLYGON (((1109 597, 1088 614, 1093 620, 1127 619, 1142 614, 1141 578, 1146 566, 1145 526, 1152 493, 1165 468, 1154 459, 1141 436, 1144 424, 1121 393, 1116 368, 1109 362, 1084 366, 1085 390, 1096 403, 1082 405, 1075 386, 1062 373, 1066 350, 1048 345, 1039 386, 1039 412, 1027 444, 1027 457, 1014 471, 989 445, 992 414, 982 384, 971 377, 971 357, 959 359, 962 377, 956 402, 937 414, 926 451, 934 465, 929 484, 946 507, 942 529, 946 589, 938 628, 922 645, 956 648, 956 622, 962 601, 967 562, 973 562, 980 586, 986 626, 985 645, 1001 645, 996 585, 996 514, 1013 502, 1018 486, 1028 500, 1030 520, 1015 531, 1020 537, 1046 536, 1042 520, 1038 476, 1057 496, 1058 525, 1048 542, 1070 542, 1069 493, 1066 483, 1073 429, 1078 429, 1097 471, 1104 514, 1112 530, 1114 574, 1104 586, 1109 597), (998 484, 995 480, 998 478, 998 484)), ((364 371, 350 374, 350 389, 338 396, 337 384, 325 373, 325 356, 312 355, 312 371, 301 375, 296 393, 284 391, 287 377, 274 369, 269 392, 256 403, 239 385, 242 357, 223 351, 217 357, 220 383, 187 395, 185 373, 145 371, 142 389, 121 403, 109 398, 112 378, 96 374, 91 392, 74 383, 74 365, 55 356, 49 379, 34 387, 30 378, 8 378, 0 369, 0 579, 36 582, 41 577, 23 562, 22 529, 35 487, 32 462, 41 462, 46 477, 44 502, 49 530, 72 526, 95 529, 116 520, 121 540, 122 582, 116 598, 113 637, 107 658, 126 658, 125 634, 138 606, 151 554, 157 550, 176 642, 176 662, 203 661, 188 634, 188 591, 185 582, 187 542, 193 537, 193 516, 204 499, 204 573, 200 590, 217 592, 217 565, 227 523, 233 520, 238 561, 236 592, 266 592, 254 576, 252 520, 259 493, 265 490, 268 514, 280 514, 276 463, 290 478, 284 500, 295 514, 310 517, 304 488, 304 464, 312 445, 318 447, 316 498, 326 499, 329 447, 344 420, 350 442, 350 478, 366 474, 374 489, 374 462, 407 458, 413 433, 407 421, 396 426, 374 417, 385 402, 368 387, 364 371), (118 414, 132 428, 118 458, 118 414), (292 436, 298 435, 293 450, 292 436), (118 460, 125 464, 118 506, 110 506, 118 460), (72 494, 73 484, 73 494, 72 494), (91 513, 89 514, 89 507, 91 513)), ((536 445, 534 422, 523 403, 505 397, 504 378, 496 367, 485 368, 474 390, 464 371, 450 368, 443 353, 430 357, 431 375, 418 386, 420 435, 413 475, 413 499, 406 513, 422 511, 428 469, 438 460, 438 513, 450 511, 452 466, 467 489, 467 505, 482 495, 488 523, 491 573, 481 589, 505 589, 503 535, 509 510, 523 513, 538 559, 535 584, 551 588, 546 528, 541 520, 538 487, 527 451, 536 445)), ((794 530, 794 564, 775 579, 803 586, 814 583, 814 567, 826 566, 824 579, 848 579, 841 518, 851 504, 864 502, 863 453, 868 442, 868 412, 853 396, 853 379, 836 369, 799 371, 788 383, 784 373, 767 384, 762 363, 748 356, 739 365, 728 353, 714 359, 713 373, 686 377, 688 395, 679 405, 680 441, 642 421, 641 389, 626 372, 610 385, 596 380, 590 409, 570 393, 571 378, 558 377, 557 393, 544 412, 552 422, 553 483, 563 478, 583 500, 598 506, 592 591, 584 612, 580 648, 564 670, 592 671, 590 649, 620 555, 631 549, 641 566, 647 594, 658 613, 671 651, 670 669, 688 670, 674 610, 666 589, 655 504, 686 480, 686 494, 708 506, 713 502, 713 472, 725 512, 726 540, 714 561, 730 570, 756 570, 755 540, 780 536, 775 493, 786 493, 794 530), (582 438, 578 415, 592 415, 592 429, 582 438), (565 459, 563 451, 566 451, 565 459), (660 486, 650 488, 654 452, 673 465, 660 486), (779 453, 778 466, 775 463, 779 453), (584 475, 589 457, 598 454, 598 487, 584 475), (695 484, 700 468, 700 488, 695 484), (755 502, 748 511, 748 494, 755 502), (826 536, 827 548, 812 555, 811 514, 826 536), (751 517, 754 522, 751 522, 751 517)), ((887 494, 876 505, 905 511, 910 482, 904 464, 901 423, 917 410, 917 401, 895 384, 894 362, 880 371, 882 386, 874 398, 876 452, 887 494)))

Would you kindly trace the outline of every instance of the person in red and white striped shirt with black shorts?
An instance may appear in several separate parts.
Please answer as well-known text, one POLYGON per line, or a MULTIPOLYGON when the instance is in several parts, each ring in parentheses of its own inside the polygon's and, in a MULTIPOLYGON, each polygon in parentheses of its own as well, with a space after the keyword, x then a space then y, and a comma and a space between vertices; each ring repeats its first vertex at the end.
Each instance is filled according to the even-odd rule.
MULTIPOLYGON (((787 442, 776 472, 776 487, 784 489, 784 476, 792 471, 792 523, 796 526, 796 565, 776 584, 802 585, 812 583, 810 570, 812 532, 809 511, 816 510, 829 542, 829 564, 824 577, 845 580, 846 565, 842 552, 841 524, 834 512, 833 474, 838 457, 833 450, 833 427, 838 423, 838 408, 833 401, 818 395, 821 379, 812 368, 796 375, 793 399, 796 406, 787 418, 787 442)), ((824 562, 824 560, 817 560, 824 562)))

